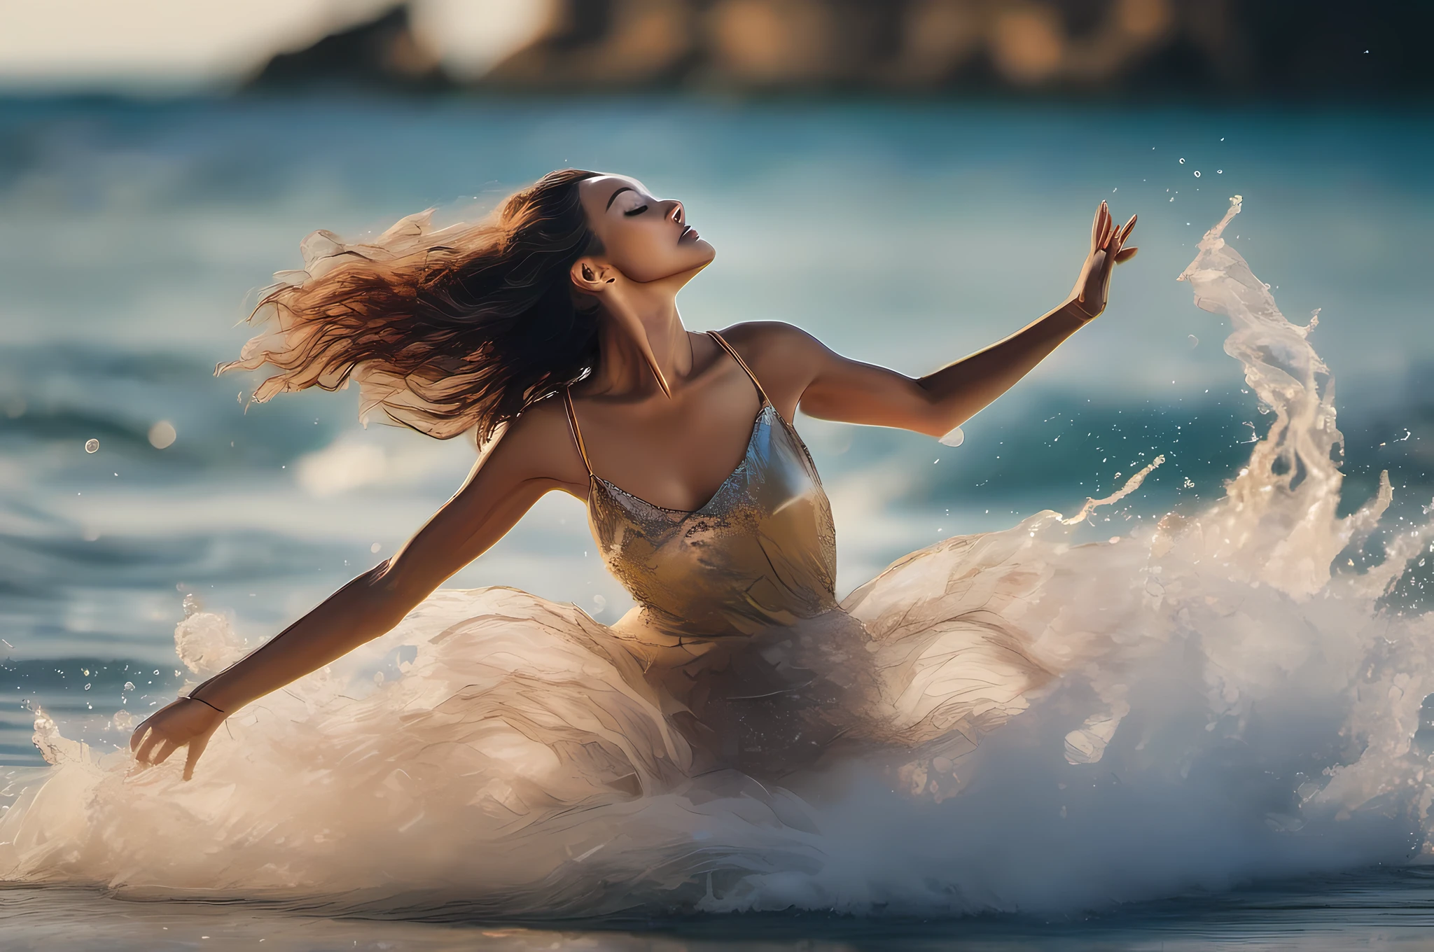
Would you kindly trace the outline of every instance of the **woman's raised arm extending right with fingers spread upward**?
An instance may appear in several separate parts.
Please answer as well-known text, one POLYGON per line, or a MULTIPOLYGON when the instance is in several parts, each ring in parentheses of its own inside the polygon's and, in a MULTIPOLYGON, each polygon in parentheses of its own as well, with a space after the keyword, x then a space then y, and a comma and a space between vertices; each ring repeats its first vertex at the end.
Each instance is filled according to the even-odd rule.
POLYGON ((912 379, 847 360, 786 324, 741 324, 727 331, 779 409, 800 404, 810 416, 892 426, 941 436, 1005 393, 1067 337, 1106 307, 1110 274, 1129 261, 1126 239, 1136 219, 1116 227, 1106 202, 1091 225, 1090 251, 1070 297, 1044 317, 989 347, 912 379))

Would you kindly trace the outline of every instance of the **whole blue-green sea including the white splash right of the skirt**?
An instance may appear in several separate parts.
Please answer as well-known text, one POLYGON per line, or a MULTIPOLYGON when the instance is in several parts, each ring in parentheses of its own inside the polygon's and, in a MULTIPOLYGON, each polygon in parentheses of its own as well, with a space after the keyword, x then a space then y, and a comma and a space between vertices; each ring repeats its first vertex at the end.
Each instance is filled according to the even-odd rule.
MULTIPOLYGON (((958 796, 909 807, 858 790, 822 817, 825 839, 756 843, 800 855, 790 869, 683 913, 737 919, 664 919, 634 938, 614 930, 651 923, 618 896, 598 920, 549 910, 588 915, 578 935, 483 938, 1417 938, 1430 898, 1421 701, 1434 688, 1418 389, 1430 192, 1415 173, 1430 136, 1415 123, 641 100, 26 102, 7 105, 4 136, 11 809, 33 809, 26 791, 53 773, 30 743, 37 710, 40 747, 75 776, 191 677, 172 637, 186 596, 191 614, 227 617, 235 644, 257 644, 391 552, 470 465, 462 442, 358 430, 350 394, 245 407, 239 383, 208 376, 244 337, 229 327, 244 291, 293 265, 305 231, 358 235, 426 205, 462 216, 554 165, 630 171, 684 198, 718 247, 718 265, 684 292, 694 327, 792 320, 921 373, 1058 303, 1106 198, 1120 218, 1140 212, 1143 247, 1110 311, 967 424, 964 446, 799 420, 833 496, 842 594, 946 536, 1017 533, 1071 586, 1063 631, 1084 639, 1087 668, 988 740, 978 783, 958 796), (1236 192, 1245 211, 1207 237, 1236 192), (1312 331, 1279 313, 1316 307, 1312 331), (1139 489, 1078 525, 1050 512, 1077 516, 1156 457, 1139 489), (1103 625, 1101 612, 1120 619, 1103 625), (802 913, 760 918, 779 910, 802 913)), ((457 584, 518 585, 607 621, 627 606, 581 508, 558 499, 457 584)), ((32 863, 26 879, 50 885, 6 893, 16 941, 77 942, 77 922, 92 942, 132 948, 169 932, 280 948, 480 941, 470 928, 295 912, 323 889, 139 906, 155 896, 126 892, 113 869, 62 866, 32 863)), ((457 883, 419 915, 502 918, 473 899, 457 883)), ((330 915, 404 915, 326 902, 330 915)), ((632 902, 655 915, 652 896, 632 902)))

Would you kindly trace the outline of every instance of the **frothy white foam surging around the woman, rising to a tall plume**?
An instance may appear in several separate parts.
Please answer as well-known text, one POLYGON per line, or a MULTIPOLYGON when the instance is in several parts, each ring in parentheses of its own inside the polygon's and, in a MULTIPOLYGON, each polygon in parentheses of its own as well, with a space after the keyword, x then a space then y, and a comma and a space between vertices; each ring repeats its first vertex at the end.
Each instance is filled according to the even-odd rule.
MULTIPOLYGON (((979 744, 888 770, 847 761, 804 797, 730 773, 664 786, 680 743, 642 697, 579 645, 535 658, 535 632, 589 621, 505 589, 450 592, 231 718, 189 784, 178 764, 126 779, 125 754, 98 760, 42 715, 36 741, 56 766, 0 822, 0 875, 369 913, 934 913, 1070 910, 1427 857, 1430 764, 1411 738, 1434 691, 1434 627, 1380 599, 1430 528, 1391 536, 1372 566, 1341 558, 1378 528, 1390 485, 1336 515, 1332 380, 1309 328, 1225 242, 1238 211, 1182 280, 1230 318, 1225 350, 1272 410, 1269 432, 1203 509, 1091 545, 1054 512, 977 541, 1007 553, 1002 591, 1017 579, 1021 594, 1001 617, 1055 675, 1002 695, 992 668, 982 704, 1001 717, 971 731, 979 744), (475 644, 485 657, 465 651, 475 644), (554 695, 591 703, 532 720, 554 695), (508 720, 475 704, 506 704, 508 720), (584 718, 607 746, 533 740, 584 718), (614 750, 654 793, 599 789, 597 767, 562 779, 614 750)), ((964 579, 942 566, 971 543, 932 546, 846 606, 889 618, 923 586, 958 598, 964 579)), ((185 625, 201 674, 238 649, 217 617, 185 625)), ((926 681, 903 711, 942 678, 972 678, 918 661, 926 681)))

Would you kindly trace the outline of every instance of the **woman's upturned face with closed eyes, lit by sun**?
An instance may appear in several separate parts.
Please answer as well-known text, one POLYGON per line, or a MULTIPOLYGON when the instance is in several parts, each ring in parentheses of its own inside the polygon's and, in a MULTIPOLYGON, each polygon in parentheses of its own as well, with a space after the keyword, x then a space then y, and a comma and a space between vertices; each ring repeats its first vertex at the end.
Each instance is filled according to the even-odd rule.
POLYGON ((717 251, 687 224, 683 204, 655 198, 625 175, 598 175, 578 184, 588 224, 602 257, 628 280, 660 281, 711 264, 717 251))

